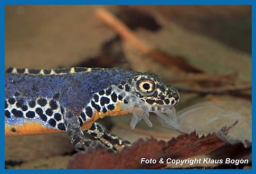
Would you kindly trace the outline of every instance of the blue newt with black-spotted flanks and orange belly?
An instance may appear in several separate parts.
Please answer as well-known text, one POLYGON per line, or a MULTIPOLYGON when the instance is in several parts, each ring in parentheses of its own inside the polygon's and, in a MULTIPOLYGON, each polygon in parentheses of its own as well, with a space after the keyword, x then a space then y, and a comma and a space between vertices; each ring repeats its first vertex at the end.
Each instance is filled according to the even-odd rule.
MULTIPOLYGON (((155 73, 118 68, 10 67, 5 70, 5 135, 66 131, 77 151, 86 150, 96 142, 118 151, 130 142, 109 133, 96 122, 99 118, 135 114, 145 106, 154 111, 160 106, 177 104, 179 98, 178 90, 155 73), (83 131, 93 139, 84 136, 83 131)), ((137 115, 147 121, 141 113, 145 114, 137 115)), ((146 123, 150 125, 150 121, 146 123)))

